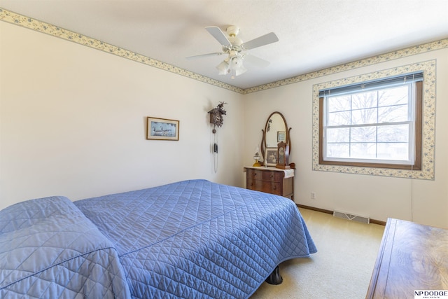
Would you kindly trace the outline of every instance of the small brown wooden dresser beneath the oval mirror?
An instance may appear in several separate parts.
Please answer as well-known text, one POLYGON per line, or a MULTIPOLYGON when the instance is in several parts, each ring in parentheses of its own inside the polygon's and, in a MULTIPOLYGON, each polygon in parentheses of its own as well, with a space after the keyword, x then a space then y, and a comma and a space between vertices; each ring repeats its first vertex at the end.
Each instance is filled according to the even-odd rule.
POLYGON ((294 169, 244 167, 246 189, 281 195, 294 200, 294 169))

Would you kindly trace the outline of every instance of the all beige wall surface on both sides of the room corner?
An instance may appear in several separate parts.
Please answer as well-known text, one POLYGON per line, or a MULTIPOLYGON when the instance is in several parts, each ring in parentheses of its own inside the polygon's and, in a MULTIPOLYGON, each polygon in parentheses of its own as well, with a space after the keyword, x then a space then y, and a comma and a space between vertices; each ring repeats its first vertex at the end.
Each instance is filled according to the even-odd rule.
POLYGON ((448 49, 240 95, 5 22, 0 31, 0 208, 182 179, 243 186, 267 116, 280 111, 292 127, 297 203, 448 227, 448 49), (312 85, 433 59, 435 180, 312 171, 312 85), (229 104, 215 173, 207 111, 219 101, 229 104), (146 140, 146 116, 180 120, 180 140, 146 140))

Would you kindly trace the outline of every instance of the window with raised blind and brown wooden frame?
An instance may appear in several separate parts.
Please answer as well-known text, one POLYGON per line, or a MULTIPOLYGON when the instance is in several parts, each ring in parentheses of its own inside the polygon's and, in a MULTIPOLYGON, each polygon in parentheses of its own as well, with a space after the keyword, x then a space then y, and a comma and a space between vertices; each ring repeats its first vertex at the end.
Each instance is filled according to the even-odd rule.
POLYGON ((319 90, 319 164, 421 169, 423 73, 319 90))

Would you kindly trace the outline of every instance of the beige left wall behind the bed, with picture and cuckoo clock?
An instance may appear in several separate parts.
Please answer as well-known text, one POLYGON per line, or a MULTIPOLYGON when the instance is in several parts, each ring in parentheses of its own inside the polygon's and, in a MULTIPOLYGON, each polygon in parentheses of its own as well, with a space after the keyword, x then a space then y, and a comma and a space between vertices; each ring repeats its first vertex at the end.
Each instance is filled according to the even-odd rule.
POLYGON ((0 31, 0 208, 183 179, 241 183, 238 93, 6 22, 0 31), (215 173, 207 112, 220 101, 215 173), (146 140, 146 116, 180 120, 179 141, 146 140))

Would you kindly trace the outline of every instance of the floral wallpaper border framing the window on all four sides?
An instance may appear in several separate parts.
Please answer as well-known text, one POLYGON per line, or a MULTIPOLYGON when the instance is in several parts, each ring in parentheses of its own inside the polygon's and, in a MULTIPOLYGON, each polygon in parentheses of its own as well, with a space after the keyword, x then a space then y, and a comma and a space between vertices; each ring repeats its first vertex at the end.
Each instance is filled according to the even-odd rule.
POLYGON ((435 149, 435 69, 436 60, 417 62, 402 67, 394 67, 383 71, 343 78, 335 81, 313 85, 313 170, 324 172, 340 172, 347 174, 368 174, 374 176, 392 176, 407 179, 433 180, 434 176, 434 149, 435 149), (346 167, 337 165, 319 164, 319 90, 333 88, 340 85, 349 85, 385 78, 398 74, 407 74, 414 71, 423 71, 423 129, 422 129, 422 167, 421 170, 383 169, 374 167, 346 167))

